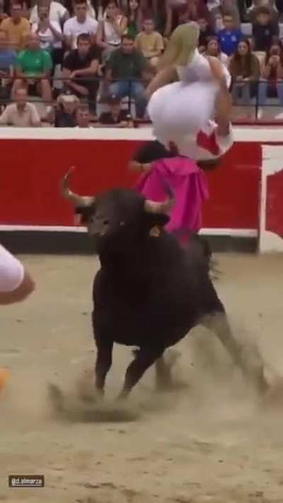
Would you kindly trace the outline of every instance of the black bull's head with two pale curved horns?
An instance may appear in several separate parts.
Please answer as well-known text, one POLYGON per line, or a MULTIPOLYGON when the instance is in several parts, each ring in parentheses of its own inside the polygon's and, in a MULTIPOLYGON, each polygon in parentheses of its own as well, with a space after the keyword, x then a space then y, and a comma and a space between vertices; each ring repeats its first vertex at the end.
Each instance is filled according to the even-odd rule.
POLYGON ((69 189, 72 170, 74 168, 62 180, 62 195, 74 203, 81 223, 87 226, 98 245, 113 237, 121 244, 125 240, 133 241, 141 233, 149 234, 152 229, 161 229, 168 223, 168 212, 174 204, 173 193, 168 187, 169 197, 164 202, 145 200, 130 189, 110 190, 97 197, 81 196, 69 189))

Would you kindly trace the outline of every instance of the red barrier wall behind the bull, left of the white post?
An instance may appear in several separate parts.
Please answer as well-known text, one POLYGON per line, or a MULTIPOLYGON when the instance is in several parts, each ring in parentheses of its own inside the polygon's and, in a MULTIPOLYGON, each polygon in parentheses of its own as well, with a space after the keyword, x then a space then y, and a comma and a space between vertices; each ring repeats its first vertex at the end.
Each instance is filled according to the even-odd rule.
MULTIPOLYGON (((41 131, 44 137, 44 131, 41 131)), ((0 224, 71 226, 73 213, 59 195, 59 180, 70 166, 72 187, 95 193, 131 187, 127 162, 137 139, 0 139, 0 224)), ((208 174, 210 199, 204 227, 258 229, 260 143, 237 141, 221 166, 208 174)))

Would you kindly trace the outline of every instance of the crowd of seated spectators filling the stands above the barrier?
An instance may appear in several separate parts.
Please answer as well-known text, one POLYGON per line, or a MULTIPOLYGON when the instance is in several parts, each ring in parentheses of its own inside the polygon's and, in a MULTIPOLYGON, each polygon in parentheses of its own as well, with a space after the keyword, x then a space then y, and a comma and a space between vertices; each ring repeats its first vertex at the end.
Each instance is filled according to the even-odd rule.
POLYGON ((146 85, 188 21, 200 51, 229 67, 242 115, 252 100, 283 105, 282 0, 0 0, 0 125, 146 119, 146 85))

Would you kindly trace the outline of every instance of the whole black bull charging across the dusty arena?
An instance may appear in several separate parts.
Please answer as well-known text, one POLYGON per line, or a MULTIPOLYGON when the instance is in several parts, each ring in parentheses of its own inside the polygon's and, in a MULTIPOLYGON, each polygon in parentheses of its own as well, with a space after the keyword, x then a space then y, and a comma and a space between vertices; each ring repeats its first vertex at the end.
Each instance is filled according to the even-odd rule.
POLYGON ((258 391, 265 390, 260 355, 255 349, 250 358, 233 337, 204 247, 192 240, 185 250, 163 230, 172 197, 154 203, 122 189, 83 197, 69 190, 69 173, 62 184, 64 197, 86 224, 101 266, 93 283, 92 314, 98 393, 103 394, 114 342, 139 348, 120 393, 126 397, 152 364, 158 385, 168 383, 163 353, 198 324, 216 334, 258 391))

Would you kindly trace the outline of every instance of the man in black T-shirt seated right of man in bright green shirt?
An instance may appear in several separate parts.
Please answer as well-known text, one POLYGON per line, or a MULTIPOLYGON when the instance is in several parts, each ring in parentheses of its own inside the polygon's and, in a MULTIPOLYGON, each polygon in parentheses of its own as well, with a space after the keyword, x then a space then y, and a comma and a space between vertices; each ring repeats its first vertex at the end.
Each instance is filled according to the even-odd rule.
POLYGON ((91 35, 81 33, 78 37, 78 48, 71 50, 63 61, 63 78, 66 88, 78 98, 88 98, 91 110, 96 110, 96 94, 98 91, 98 68, 100 50, 91 46, 91 35))

